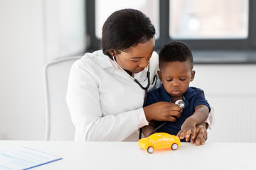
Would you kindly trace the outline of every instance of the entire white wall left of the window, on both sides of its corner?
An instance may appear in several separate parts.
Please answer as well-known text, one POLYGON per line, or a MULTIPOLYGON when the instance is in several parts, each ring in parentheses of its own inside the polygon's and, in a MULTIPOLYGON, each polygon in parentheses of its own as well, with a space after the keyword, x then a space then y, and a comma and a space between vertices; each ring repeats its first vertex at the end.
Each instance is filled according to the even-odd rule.
POLYGON ((0 1, 0 140, 43 140, 43 66, 85 49, 82 0, 0 1))

